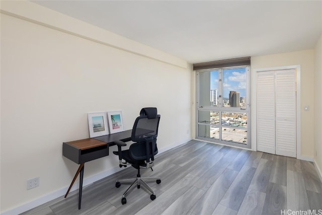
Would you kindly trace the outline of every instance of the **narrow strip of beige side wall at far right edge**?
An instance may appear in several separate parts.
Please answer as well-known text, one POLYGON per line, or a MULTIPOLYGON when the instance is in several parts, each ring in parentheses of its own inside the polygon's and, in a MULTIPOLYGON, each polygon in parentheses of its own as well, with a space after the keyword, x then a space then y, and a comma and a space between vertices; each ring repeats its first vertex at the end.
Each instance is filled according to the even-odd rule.
POLYGON ((322 35, 314 49, 314 162, 322 177, 322 35))

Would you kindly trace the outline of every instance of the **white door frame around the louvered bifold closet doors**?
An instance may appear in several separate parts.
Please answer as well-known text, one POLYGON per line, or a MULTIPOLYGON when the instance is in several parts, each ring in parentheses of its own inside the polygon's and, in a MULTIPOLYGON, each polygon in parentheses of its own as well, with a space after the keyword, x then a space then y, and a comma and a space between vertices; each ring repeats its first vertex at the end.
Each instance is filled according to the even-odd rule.
POLYGON ((301 160, 307 160, 301 156, 301 66, 289 65, 289 66, 277 66, 268 68, 256 68, 253 69, 253 87, 252 89, 252 150, 257 151, 257 73, 261 71, 272 70, 296 70, 296 158, 301 160))

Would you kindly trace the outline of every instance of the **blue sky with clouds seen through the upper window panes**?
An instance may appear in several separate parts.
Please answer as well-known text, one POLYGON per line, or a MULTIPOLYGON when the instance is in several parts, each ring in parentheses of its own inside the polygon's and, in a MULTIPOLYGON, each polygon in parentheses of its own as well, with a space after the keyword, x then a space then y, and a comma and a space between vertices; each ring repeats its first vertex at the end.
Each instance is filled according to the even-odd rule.
MULTIPOLYGON (((246 96, 246 68, 223 69, 223 97, 228 98, 230 91, 239 92, 240 96, 246 96)), ((210 72, 210 89, 219 89, 218 70, 210 72)))

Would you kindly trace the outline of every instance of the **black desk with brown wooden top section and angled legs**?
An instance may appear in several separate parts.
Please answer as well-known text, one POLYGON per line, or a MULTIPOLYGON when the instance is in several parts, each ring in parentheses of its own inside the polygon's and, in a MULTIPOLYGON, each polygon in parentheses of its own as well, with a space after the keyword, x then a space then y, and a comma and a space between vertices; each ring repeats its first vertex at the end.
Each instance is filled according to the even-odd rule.
POLYGON ((94 138, 80 139, 62 143, 62 155, 69 160, 79 164, 78 170, 72 179, 70 186, 66 192, 67 197, 70 188, 74 184, 79 174, 79 194, 78 194, 78 209, 81 209, 82 191, 83 191, 83 176, 85 162, 93 161, 109 155, 109 147, 114 146, 115 140, 130 141, 132 130, 126 130, 119 133, 107 134, 94 138))

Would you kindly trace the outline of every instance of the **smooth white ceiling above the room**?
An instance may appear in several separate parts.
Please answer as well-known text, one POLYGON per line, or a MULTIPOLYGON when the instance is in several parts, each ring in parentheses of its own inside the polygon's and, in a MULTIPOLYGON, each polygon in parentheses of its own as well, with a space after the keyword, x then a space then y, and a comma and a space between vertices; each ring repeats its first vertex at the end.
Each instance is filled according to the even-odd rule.
POLYGON ((190 63, 314 48, 322 1, 32 1, 190 63))

